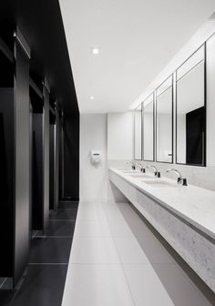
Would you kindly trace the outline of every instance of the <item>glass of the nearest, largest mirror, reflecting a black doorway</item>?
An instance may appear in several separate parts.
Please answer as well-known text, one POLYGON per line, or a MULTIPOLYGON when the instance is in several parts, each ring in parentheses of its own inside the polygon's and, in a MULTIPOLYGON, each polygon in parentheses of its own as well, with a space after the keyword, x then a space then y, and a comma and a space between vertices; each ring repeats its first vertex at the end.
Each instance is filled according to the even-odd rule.
POLYGON ((176 121, 176 162, 205 166, 205 61, 203 47, 177 71, 176 121))

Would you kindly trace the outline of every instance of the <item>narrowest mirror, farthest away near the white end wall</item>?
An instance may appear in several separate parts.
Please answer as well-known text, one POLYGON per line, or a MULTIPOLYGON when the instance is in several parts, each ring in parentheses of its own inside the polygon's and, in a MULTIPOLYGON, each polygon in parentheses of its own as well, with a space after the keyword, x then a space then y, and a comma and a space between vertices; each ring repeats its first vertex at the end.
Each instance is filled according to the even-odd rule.
POLYGON ((142 158, 142 105, 134 111, 134 159, 142 158))

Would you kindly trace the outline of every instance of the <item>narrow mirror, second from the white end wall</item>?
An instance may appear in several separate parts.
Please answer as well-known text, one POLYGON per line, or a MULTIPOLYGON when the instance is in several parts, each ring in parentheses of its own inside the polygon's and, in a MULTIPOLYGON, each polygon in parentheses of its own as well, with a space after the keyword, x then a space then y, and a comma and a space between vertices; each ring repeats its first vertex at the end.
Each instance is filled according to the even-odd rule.
POLYGON ((154 161, 154 95, 149 96, 142 106, 143 159, 154 161))

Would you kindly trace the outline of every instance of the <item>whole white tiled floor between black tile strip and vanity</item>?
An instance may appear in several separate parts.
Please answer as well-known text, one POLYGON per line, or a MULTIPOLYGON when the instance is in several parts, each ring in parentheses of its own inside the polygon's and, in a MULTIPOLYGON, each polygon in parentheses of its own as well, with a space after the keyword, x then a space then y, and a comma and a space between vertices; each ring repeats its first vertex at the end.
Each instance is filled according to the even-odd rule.
POLYGON ((80 202, 62 306, 209 306, 128 203, 80 202))

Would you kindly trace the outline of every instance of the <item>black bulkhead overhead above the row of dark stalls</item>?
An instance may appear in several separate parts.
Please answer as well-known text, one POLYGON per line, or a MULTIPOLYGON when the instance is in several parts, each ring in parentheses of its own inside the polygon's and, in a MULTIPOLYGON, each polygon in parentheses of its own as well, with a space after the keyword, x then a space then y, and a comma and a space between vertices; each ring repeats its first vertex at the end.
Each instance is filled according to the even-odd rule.
POLYGON ((65 113, 77 114, 77 95, 58 0, 40 1, 39 5, 37 0, 1 1, 0 24, 0 34, 3 32, 4 36, 9 26, 20 27, 31 47, 31 69, 39 76, 46 73, 51 92, 65 113))

